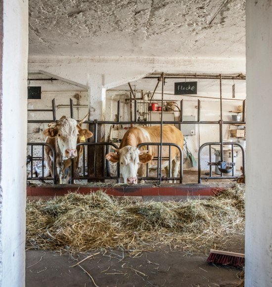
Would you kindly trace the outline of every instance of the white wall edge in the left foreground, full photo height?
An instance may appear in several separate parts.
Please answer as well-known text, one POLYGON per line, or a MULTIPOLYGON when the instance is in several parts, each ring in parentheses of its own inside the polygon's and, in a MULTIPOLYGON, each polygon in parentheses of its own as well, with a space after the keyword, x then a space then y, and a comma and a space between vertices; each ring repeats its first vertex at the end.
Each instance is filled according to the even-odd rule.
POLYGON ((25 285, 28 1, 3 1, 0 285, 25 285))

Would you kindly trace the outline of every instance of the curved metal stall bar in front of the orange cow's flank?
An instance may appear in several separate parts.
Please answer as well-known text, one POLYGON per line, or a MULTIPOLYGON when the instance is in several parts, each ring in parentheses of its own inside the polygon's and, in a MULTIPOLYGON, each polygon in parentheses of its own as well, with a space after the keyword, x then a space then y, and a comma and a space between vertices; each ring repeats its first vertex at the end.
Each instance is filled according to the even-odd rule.
MULTIPOLYGON (((150 143, 150 142, 144 142, 144 143, 141 143, 141 144, 138 144, 137 145, 137 148, 139 149, 139 148, 141 148, 142 146, 157 146, 158 147, 158 155, 159 155, 159 148, 160 148, 160 146, 161 146, 161 143, 160 142, 157 142, 157 143, 150 143)), ((182 183, 182 180, 183 180, 183 152, 182 152, 182 149, 181 149, 181 147, 179 146, 179 145, 177 145, 177 144, 175 144, 175 143, 162 143, 162 146, 174 146, 174 147, 176 147, 176 148, 178 148, 179 149, 179 151, 180 151, 180 177, 173 177, 173 174, 172 174, 172 176, 171 177, 169 177, 168 178, 168 180, 179 180, 180 181, 180 183, 182 183)), ((170 161, 170 157, 165 157, 165 158, 162 158, 163 160, 166 160, 166 161, 170 161)), ((157 161, 158 163, 160 163, 160 158, 159 157, 154 157, 153 158, 153 161, 157 161)), ((159 166, 159 165, 157 165, 158 166, 158 169, 161 167, 161 166, 159 166)), ((159 176, 159 174, 157 173, 157 177, 150 177, 150 176, 148 176, 148 177, 138 177, 138 179, 146 179, 146 180, 148 180, 148 179, 152 179, 152 180, 160 180, 161 179, 161 177, 159 176)))

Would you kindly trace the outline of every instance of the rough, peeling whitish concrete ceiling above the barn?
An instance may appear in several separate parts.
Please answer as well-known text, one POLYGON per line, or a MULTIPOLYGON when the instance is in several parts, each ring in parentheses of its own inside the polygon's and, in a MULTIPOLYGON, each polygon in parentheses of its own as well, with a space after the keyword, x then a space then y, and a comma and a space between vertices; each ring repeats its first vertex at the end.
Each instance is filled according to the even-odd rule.
POLYGON ((245 0, 29 0, 29 54, 245 58, 245 0))

